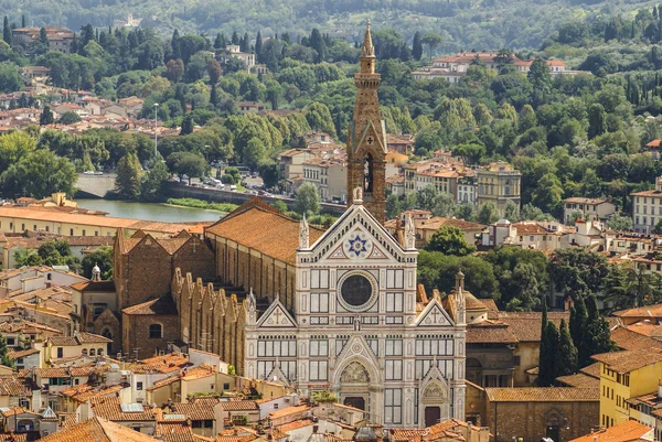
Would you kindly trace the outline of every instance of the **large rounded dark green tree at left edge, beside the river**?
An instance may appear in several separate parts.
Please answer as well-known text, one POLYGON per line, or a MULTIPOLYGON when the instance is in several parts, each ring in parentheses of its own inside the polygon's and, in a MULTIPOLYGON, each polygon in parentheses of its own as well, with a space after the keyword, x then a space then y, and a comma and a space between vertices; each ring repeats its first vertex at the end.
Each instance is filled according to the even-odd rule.
POLYGON ((23 155, 0 175, 6 195, 43 198, 53 192, 74 194, 76 169, 65 158, 47 150, 36 150, 23 155))

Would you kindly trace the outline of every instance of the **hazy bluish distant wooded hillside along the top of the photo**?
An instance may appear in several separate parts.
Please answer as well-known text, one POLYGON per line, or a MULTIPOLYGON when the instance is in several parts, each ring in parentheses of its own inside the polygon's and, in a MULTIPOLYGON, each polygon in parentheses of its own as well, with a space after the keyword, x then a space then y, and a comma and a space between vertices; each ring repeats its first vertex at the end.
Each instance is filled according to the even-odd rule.
POLYGON ((289 32, 307 35, 318 28, 331 35, 359 40, 360 22, 371 18, 376 30, 395 29, 406 40, 416 31, 439 33, 439 52, 460 50, 537 48, 568 21, 591 22, 602 15, 624 18, 653 1, 610 0, 0 0, 17 25, 63 25, 73 30, 92 23, 113 25, 129 13, 163 35, 232 34, 258 30, 263 35, 289 32))

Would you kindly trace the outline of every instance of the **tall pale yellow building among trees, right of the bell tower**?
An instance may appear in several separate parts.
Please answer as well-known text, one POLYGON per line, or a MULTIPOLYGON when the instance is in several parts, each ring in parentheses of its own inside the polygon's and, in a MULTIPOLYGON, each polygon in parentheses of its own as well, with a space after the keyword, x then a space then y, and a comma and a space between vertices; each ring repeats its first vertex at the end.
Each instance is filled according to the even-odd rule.
POLYGON ((522 173, 511 164, 499 161, 476 172, 478 176, 478 208, 492 202, 499 216, 505 213, 505 203, 510 200, 520 206, 520 184, 522 173))

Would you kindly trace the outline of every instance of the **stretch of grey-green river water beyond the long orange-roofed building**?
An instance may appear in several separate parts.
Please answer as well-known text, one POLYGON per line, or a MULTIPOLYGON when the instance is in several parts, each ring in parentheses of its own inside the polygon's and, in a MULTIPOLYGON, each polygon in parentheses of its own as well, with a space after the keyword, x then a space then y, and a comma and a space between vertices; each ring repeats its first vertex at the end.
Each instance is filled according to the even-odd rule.
POLYGON ((166 223, 215 222, 224 215, 215 211, 159 203, 127 203, 111 200, 76 200, 76 202, 84 208, 108 212, 108 216, 166 223))

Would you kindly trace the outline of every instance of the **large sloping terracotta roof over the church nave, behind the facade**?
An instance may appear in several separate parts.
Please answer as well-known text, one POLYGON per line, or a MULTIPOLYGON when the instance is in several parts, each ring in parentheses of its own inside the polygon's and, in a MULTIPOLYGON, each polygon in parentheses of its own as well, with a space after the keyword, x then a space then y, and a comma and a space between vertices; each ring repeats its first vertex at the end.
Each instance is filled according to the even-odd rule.
MULTIPOLYGON (((309 231, 310 244, 314 244, 323 234, 323 230, 312 226, 309 231)), ((299 245, 299 222, 254 197, 207 227, 205 235, 209 234, 293 265, 299 245)))

